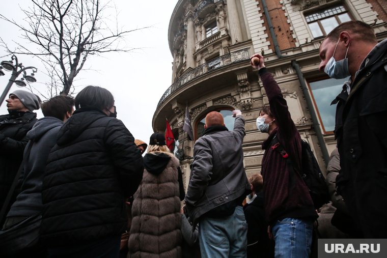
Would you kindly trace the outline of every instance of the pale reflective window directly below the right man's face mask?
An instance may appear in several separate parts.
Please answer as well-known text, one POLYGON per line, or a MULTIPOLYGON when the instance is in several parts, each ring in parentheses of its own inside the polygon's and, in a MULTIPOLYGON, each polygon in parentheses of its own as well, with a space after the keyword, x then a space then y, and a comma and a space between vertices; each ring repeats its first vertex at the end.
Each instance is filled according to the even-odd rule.
POLYGON ((344 79, 325 79, 309 82, 318 117, 324 133, 332 133, 335 130, 336 105, 330 103, 343 90, 344 79))

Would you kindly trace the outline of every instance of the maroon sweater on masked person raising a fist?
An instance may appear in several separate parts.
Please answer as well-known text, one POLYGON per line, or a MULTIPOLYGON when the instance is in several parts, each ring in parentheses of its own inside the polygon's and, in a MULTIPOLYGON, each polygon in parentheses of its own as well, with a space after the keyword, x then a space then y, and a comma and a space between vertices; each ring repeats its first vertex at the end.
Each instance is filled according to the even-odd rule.
POLYGON ((262 149, 265 150, 262 159, 262 177, 266 219, 270 225, 283 218, 314 220, 317 213, 307 186, 295 171, 289 173, 286 159, 270 148, 271 140, 277 134, 280 144, 289 154, 293 164, 295 162, 297 167, 300 167, 301 137, 290 117, 288 105, 277 82, 266 68, 260 69, 259 74, 269 99, 270 111, 278 125, 262 145, 262 149))

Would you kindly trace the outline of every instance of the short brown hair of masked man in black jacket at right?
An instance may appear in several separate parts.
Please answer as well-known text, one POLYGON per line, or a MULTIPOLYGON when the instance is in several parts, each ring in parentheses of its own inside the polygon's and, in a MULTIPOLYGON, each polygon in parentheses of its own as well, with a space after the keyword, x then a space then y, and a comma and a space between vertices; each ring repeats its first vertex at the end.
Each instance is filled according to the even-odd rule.
POLYGON ((347 31, 351 34, 357 34, 363 41, 377 43, 375 31, 371 25, 359 21, 359 20, 351 20, 346 21, 335 27, 328 35, 326 35, 325 39, 337 42, 340 36, 340 33, 347 31))

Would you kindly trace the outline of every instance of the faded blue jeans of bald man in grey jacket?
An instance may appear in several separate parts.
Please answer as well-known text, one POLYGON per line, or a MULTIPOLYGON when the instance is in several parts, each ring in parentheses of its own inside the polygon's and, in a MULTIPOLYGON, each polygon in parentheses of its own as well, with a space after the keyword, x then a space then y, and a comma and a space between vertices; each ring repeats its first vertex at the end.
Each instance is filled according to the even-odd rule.
POLYGON ((224 218, 203 217, 199 221, 202 258, 246 257, 247 223, 243 208, 224 218))

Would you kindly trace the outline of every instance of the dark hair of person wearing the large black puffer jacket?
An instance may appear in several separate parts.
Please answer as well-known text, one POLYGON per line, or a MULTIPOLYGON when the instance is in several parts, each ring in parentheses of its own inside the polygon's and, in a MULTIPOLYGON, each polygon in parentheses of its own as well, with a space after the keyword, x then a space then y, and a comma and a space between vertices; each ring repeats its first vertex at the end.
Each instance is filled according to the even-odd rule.
POLYGON ((75 97, 75 109, 86 107, 103 110, 112 106, 114 106, 112 93, 98 86, 88 86, 75 97))

